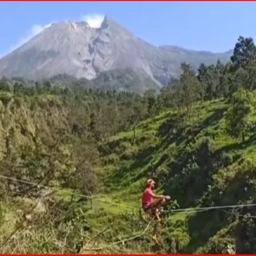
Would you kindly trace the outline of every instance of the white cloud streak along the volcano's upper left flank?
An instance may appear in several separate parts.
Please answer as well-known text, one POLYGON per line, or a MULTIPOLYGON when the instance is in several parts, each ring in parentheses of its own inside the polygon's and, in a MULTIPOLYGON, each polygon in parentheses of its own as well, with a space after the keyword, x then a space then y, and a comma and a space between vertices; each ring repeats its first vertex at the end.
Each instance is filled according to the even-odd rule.
POLYGON ((4 55, 16 50, 19 48, 21 45, 27 43, 32 37, 38 35, 41 33, 44 29, 49 28, 52 25, 52 23, 46 24, 46 25, 34 25, 32 26, 28 32, 26 33, 25 36, 21 37, 18 42, 14 45, 11 45, 9 49, 7 49, 5 52, 0 54, 0 58, 3 57, 4 55))

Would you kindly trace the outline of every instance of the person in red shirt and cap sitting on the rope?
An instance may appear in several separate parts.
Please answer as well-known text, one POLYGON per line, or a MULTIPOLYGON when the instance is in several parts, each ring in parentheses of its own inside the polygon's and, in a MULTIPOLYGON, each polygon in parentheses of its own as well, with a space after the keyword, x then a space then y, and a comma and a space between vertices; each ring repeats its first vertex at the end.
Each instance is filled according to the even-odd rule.
POLYGON ((157 196, 153 193, 156 182, 153 179, 147 180, 146 189, 142 195, 142 209, 145 212, 150 213, 152 217, 155 217, 157 220, 160 220, 157 211, 167 201, 170 201, 170 196, 157 196))

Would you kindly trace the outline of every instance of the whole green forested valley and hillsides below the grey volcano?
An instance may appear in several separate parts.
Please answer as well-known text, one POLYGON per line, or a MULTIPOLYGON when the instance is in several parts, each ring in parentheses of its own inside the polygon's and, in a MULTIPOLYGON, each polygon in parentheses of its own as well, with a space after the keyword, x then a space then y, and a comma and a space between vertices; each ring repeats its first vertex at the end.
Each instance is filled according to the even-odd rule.
POLYGON ((254 253, 255 207, 172 211, 256 203, 253 39, 159 93, 86 83, 0 80, 0 252, 254 253), (162 247, 139 214, 148 178, 173 200, 162 247))

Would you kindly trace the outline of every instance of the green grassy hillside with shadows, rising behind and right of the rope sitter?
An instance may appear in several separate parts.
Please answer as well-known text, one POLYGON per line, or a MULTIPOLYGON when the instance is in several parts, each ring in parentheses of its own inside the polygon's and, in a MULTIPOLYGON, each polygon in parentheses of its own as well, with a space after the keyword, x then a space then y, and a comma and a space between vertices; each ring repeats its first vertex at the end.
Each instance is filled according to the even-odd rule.
MULTIPOLYGON (((170 109, 141 122, 135 133, 130 130, 111 138, 108 147, 102 147, 107 195, 139 209, 145 181, 154 178, 157 193, 170 195, 181 209, 254 203, 256 138, 251 132, 242 145, 227 134, 228 106, 223 100, 198 102, 186 122, 170 109)), ((255 114, 251 116, 254 121, 255 114)), ((231 248, 236 253, 252 253, 254 215, 250 207, 173 213, 161 230, 161 252, 228 253, 231 248)), ((122 226, 126 225, 127 232, 129 223, 126 220, 122 226)), ((149 244, 146 235, 138 244, 143 246, 143 242, 149 244)), ((138 250, 138 244, 129 249, 138 250)))

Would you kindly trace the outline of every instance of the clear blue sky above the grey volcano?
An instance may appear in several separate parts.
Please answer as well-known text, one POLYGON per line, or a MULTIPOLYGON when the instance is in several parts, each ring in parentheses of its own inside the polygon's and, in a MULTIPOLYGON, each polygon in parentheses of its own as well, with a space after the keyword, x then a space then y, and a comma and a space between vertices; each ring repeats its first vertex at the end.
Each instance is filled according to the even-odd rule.
POLYGON ((0 56, 52 22, 108 15, 158 45, 223 52, 256 38, 256 2, 0 2, 0 56))

